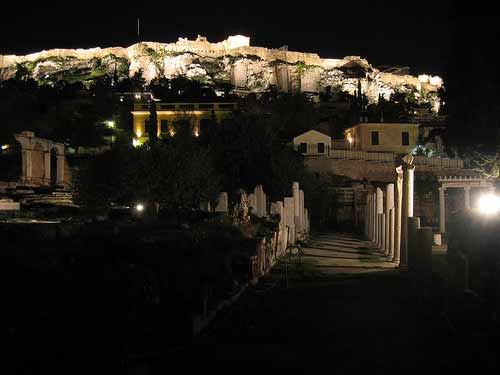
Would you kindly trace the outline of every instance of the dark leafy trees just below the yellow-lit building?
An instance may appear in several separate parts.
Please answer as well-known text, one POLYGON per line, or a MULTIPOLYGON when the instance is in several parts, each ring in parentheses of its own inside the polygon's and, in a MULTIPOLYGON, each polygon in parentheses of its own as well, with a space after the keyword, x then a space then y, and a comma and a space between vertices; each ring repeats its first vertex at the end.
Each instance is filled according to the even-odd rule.
POLYGON ((86 207, 140 201, 179 216, 201 200, 215 203, 219 179, 210 151, 187 126, 179 126, 172 138, 140 148, 119 145, 97 155, 83 168, 77 191, 86 207))

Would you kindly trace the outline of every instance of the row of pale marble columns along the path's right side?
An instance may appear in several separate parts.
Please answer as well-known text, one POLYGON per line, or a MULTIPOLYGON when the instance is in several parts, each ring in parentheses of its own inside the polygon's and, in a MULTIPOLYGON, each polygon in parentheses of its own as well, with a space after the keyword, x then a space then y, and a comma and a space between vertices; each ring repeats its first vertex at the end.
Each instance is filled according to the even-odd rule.
POLYGON ((421 228, 413 217, 414 171, 412 163, 404 163, 396 168, 395 183, 366 197, 365 235, 401 269, 408 268, 409 260, 412 265, 427 262, 432 251, 432 228, 421 228))

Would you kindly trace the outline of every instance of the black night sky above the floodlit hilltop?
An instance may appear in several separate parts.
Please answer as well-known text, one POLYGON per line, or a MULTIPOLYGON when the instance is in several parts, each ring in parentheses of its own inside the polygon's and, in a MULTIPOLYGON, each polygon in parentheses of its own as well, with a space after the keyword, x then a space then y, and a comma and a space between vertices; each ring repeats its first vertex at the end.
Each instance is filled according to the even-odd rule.
POLYGON ((2 11, 0 54, 128 46, 137 40, 137 16, 142 40, 175 42, 201 34, 216 42, 244 34, 254 46, 287 44, 330 58, 360 55, 375 66, 410 66, 412 73, 443 74, 450 48, 449 0, 126 3, 53 1, 2 11))

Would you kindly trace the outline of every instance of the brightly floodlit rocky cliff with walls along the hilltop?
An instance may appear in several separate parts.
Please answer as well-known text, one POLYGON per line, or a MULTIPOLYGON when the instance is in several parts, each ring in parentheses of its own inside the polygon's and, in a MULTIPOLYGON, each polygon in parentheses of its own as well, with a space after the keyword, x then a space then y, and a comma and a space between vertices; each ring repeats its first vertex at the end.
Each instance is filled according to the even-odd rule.
POLYGON ((249 38, 230 36, 219 43, 203 37, 176 43, 142 42, 128 48, 54 49, 26 56, 0 56, 0 79, 25 75, 41 83, 91 81, 104 75, 132 76, 146 81, 184 76, 217 87, 231 83, 238 92, 261 92, 271 85, 281 91, 319 93, 328 86, 353 94, 361 83, 370 102, 395 91, 414 92, 437 110, 441 78, 384 73, 365 59, 348 56, 323 59, 302 53, 252 47, 249 38))

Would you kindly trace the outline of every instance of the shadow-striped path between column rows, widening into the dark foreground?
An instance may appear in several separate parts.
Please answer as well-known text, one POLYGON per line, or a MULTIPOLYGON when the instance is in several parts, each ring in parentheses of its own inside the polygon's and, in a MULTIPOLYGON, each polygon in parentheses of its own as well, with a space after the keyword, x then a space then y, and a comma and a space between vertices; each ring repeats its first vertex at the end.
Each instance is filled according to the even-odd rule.
POLYGON ((328 372, 382 373, 475 360, 472 343, 460 343, 407 275, 369 242, 319 233, 301 262, 302 273, 290 264, 288 287, 278 265, 194 343, 162 354, 158 367, 168 368, 168 357, 192 358, 189 365, 265 360, 282 368, 326 364, 328 372))

